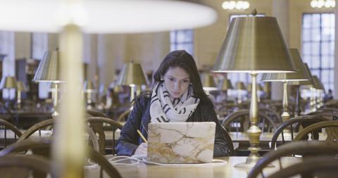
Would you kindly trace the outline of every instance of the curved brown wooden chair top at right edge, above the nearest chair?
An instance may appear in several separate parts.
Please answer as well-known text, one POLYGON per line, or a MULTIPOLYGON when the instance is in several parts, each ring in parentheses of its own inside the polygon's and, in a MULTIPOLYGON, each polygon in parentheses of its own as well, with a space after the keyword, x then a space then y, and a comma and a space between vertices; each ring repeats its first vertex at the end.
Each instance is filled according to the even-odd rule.
POLYGON ((303 139, 308 139, 308 134, 311 133, 311 139, 315 140, 318 138, 315 138, 315 134, 318 132, 318 130, 325 128, 325 132, 327 134, 326 141, 331 141, 334 143, 338 143, 338 120, 327 120, 323 122, 318 122, 313 125, 310 125, 306 127, 305 129, 302 129, 301 132, 297 134, 296 137, 294 137, 294 141, 299 141, 303 139))

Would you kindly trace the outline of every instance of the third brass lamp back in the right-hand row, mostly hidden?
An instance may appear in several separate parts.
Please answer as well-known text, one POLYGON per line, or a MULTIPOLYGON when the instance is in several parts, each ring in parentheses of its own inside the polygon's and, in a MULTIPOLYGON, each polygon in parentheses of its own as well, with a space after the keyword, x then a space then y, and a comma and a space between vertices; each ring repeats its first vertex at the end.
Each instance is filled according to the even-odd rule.
MULTIPOLYGON (((310 68, 308 68, 307 63, 303 63, 304 69, 306 72, 306 76, 308 77, 308 80, 303 80, 303 81, 291 81, 288 82, 289 85, 295 85, 296 86, 296 108, 294 110, 294 116, 297 117, 301 115, 301 107, 300 107, 300 99, 301 99, 301 94, 300 94, 300 86, 305 85, 305 86, 315 86, 315 82, 313 82, 313 77, 311 74, 310 68)), ((313 96, 311 96, 311 99, 313 96)), ((311 101, 312 102, 312 101, 311 101)), ((312 106, 312 105, 310 105, 312 106)))

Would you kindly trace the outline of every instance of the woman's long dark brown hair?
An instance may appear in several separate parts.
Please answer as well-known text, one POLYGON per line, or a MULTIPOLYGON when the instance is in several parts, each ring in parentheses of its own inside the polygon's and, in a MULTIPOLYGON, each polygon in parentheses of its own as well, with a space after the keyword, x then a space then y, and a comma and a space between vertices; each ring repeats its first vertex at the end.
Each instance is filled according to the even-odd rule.
POLYGON ((161 82, 161 77, 165 75, 169 68, 175 67, 180 67, 189 74, 195 97, 200 98, 202 101, 208 99, 208 96, 203 91, 201 77, 199 77, 199 70, 197 70, 194 58, 185 50, 172 51, 165 56, 160 67, 154 73, 154 84, 161 82))

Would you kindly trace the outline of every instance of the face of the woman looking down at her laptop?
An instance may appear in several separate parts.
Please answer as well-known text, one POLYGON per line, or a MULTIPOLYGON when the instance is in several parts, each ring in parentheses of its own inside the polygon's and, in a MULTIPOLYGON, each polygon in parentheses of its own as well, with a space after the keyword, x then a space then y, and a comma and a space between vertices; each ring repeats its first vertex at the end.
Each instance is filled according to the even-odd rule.
POLYGON ((190 83, 189 74, 180 67, 169 68, 163 79, 165 88, 173 98, 180 98, 187 91, 190 83))

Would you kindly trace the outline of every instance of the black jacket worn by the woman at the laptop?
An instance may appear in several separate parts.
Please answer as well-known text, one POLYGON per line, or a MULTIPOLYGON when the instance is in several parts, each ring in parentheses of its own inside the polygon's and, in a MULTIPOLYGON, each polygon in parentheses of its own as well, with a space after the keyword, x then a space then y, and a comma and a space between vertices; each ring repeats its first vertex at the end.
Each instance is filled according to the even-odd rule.
MULTIPOLYGON (((121 130, 120 138, 116 143, 116 153, 118 155, 133 155, 137 146, 142 143, 141 137, 137 134, 139 129, 144 137, 147 138, 148 124, 150 122, 150 101, 151 95, 142 94, 135 101, 134 108, 130 113, 127 122, 121 130)), ((210 100, 200 101, 194 113, 188 118, 187 122, 215 122, 215 146, 213 156, 229 155, 229 149, 223 135, 223 129, 218 122, 213 103, 210 100)))

